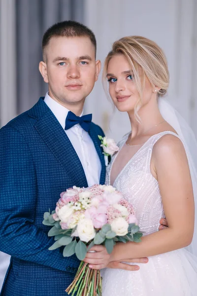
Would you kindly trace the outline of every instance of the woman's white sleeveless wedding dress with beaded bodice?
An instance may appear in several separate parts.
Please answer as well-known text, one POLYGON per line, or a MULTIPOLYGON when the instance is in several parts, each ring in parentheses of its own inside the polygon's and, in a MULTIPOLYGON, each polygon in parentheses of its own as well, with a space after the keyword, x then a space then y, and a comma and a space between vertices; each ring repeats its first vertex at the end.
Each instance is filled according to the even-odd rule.
MULTIPOLYGON (((152 136, 140 148, 135 147, 133 156, 111 184, 134 207, 143 235, 158 231, 160 219, 164 218, 159 185, 151 174, 150 161, 154 144, 165 134, 178 137, 173 132, 165 131, 152 136)), ((116 165, 114 160, 121 148, 126 148, 127 139, 128 134, 119 142, 120 150, 107 167, 106 185, 110 185, 111 168, 113 164, 116 165)), ((197 258, 185 248, 152 256, 148 263, 137 264, 140 266, 138 271, 101 270, 102 296, 197 296, 197 258)))

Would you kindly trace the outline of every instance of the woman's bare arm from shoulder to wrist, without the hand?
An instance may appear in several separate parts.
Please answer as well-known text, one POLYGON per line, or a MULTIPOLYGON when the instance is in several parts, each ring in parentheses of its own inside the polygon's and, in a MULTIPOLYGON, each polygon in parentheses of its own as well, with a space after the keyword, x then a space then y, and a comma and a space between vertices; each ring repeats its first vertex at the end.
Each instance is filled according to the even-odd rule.
POLYGON ((192 241, 194 197, 182 142, 173 135, 162 137, 153 148, 151 163, 168 228, 142 237, 141 243, 117 244, 112 252, 113 260, 154 256, 186 247, 192 241))

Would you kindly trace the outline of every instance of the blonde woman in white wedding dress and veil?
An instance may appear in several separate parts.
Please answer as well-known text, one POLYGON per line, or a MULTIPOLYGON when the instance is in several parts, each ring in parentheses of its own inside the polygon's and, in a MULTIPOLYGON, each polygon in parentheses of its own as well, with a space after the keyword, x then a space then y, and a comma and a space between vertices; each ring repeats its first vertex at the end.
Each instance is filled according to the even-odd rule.
POLYGON ((104 268, 111 261, 149 257, 138 271, 103 269, 102 296, 195 296, 197 173, 189 146, 197 152, 197 144, 162 98, 169 84, 164 53, 147 38, 123 37, 107 55, 103 77, 114 105, 131 121, 131 132, 107 167, 106 184, 133 205, 143 237, 116 244, 108 256, 88 253, 85 261, 104 268), (168 228, 158 231, 161 218, 168 228))

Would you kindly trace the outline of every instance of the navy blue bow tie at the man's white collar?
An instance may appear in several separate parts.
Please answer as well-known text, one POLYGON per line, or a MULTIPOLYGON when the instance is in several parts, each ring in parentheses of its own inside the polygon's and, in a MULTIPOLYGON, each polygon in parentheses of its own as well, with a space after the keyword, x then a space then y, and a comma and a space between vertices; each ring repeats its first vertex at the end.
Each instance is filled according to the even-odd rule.
POLYGON ((87 114, 79 117, 79 116, 76 116, 73 112, 69 111, 66 117, 65 130, 79 123, 81 127, 86 132, 88 132, 90 130, 91 121, 92 121, 92 114, 87 114))

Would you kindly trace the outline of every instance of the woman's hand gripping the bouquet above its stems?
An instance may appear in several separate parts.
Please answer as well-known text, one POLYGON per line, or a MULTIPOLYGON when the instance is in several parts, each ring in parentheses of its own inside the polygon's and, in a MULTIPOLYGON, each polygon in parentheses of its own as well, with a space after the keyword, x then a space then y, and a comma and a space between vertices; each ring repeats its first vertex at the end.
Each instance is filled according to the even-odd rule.
POLYGON ((111 255, 102 245, 95 245, 90 249, 91 252, 86 254, 84 262, 89 263, 89 267, 93 269, 102 269, 110 262, 111 255), (95 251, 92 253, 92 251, 95 251))

